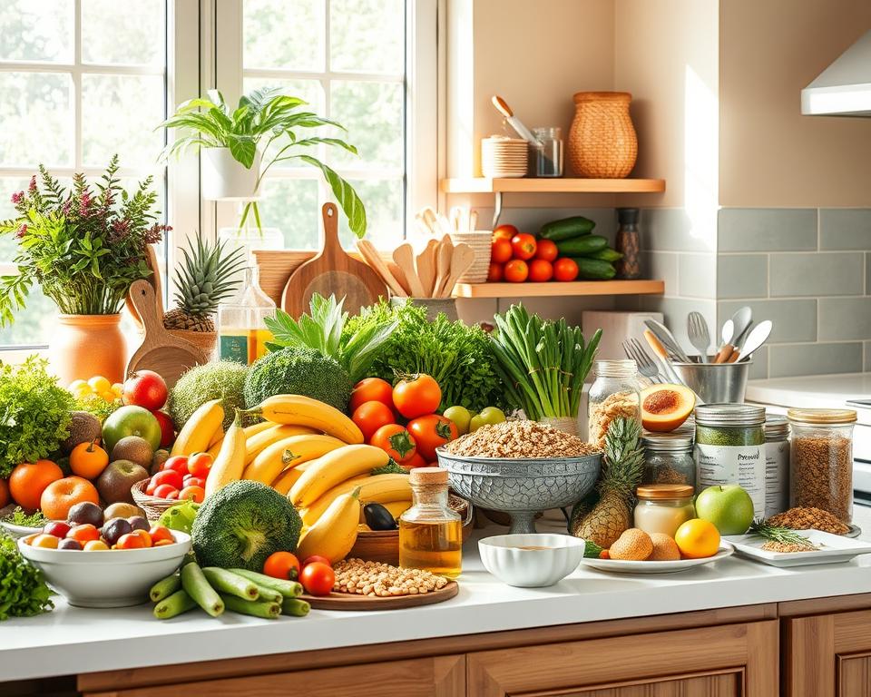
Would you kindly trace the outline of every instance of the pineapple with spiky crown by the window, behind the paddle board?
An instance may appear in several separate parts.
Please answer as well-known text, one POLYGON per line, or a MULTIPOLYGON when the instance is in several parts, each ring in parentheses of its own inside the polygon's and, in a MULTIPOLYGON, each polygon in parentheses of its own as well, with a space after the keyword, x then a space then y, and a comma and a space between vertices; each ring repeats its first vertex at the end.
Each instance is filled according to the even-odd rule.
POLYGON ((227 243, 210 245, 197 236, 196 245, 181 250, 184 260, 175 273, 175 309, 163 314, 166 329, 198 332, 215 330, 214 314, 220 300, 239 287, 230 276, 242 268, 245 257, 241 249, 225 253, 227 243))

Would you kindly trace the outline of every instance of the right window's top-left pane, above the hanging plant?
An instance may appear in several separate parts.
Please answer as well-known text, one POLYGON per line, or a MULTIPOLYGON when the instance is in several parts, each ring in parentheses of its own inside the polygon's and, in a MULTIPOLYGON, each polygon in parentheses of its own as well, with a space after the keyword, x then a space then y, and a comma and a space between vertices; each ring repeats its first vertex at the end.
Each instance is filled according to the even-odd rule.
POLYGON ((324 69, 325 0, 244 0, 246 68, 324 69))

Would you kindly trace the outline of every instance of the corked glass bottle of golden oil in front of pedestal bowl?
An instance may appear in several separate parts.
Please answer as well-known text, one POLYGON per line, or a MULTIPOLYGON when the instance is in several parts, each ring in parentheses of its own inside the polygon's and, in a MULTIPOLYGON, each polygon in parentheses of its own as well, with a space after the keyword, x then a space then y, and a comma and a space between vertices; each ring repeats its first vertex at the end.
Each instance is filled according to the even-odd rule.
POLYGON ((447 503, 447 471, 416 467, 408 476, 414 505, 399 516, 399 565, 456 578, 463 568, 463 520, 447 503))

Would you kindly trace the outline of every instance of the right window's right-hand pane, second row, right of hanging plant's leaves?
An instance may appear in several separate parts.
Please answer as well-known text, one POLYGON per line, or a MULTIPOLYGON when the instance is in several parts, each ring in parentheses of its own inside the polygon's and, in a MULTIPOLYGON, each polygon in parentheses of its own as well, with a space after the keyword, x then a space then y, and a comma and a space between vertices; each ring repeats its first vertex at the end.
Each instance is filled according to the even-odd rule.
POLYGON ((404 159, 404 109, 401 83, 331 84, 331 118, 347 133, 347 142, 357 146, 359 157, 332 148, 328 161, 337 166, 355 169, 395 167, 401 169, 404 159))

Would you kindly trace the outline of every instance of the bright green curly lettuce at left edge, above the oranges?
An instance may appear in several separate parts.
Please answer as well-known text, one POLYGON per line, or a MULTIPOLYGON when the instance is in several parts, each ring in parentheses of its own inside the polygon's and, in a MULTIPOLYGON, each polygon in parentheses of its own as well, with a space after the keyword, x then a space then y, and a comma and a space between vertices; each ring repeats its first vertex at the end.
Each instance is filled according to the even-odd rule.
POLYGON ((54 453, 69 435, 74 408, 73 395, 58 387, 44 358, 0 363, 0 477, 54 453))

